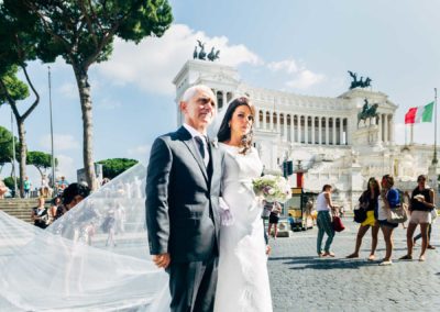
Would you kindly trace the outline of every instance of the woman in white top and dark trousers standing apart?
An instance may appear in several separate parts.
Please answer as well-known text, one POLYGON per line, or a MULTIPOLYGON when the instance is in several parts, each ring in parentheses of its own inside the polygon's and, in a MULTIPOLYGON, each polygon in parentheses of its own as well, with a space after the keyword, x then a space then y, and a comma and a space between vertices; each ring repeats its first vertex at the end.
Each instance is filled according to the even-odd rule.
POLYGON ((330 250, 331 243, 334 237, 333 225, 331 224, 332 212, 336 211, 336 207, 331 201, 332 187, 324 185, 322 192, 317 198, 317 224, 318 224, 318 239, 317 239, 317 252, 319 257, 334 257, 334 254, 330 250), (323 234, 327 234, 327 241, 323 250, 321 249, 323 234))

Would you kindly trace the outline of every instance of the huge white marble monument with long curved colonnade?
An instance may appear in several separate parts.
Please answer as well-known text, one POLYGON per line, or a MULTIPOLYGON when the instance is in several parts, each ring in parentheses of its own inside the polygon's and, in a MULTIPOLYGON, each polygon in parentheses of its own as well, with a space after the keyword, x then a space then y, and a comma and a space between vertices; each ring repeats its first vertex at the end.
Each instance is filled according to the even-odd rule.
MULTIPOLYGON (((358 202, 370 177, 391 174, 397 187, 409 190, 418 175, 429 171, 433 146, 395 143, 397 105, 383 92, 354 88, 324 98, 255 88, 241 81, 235 68, 204 60, 188 60, 173 82, 176 103, 189 86, 204 83, 217 96, 220 111, 234 97, 249 96, 256 108, 255 147, 266 172, 280 174, 283 161, 293 160, 296 171, 305 172, 307 191, 331 183, 339 203, 348 208, 358 202), (378 104, 378 116, 358 124, 365 99, 378 104)), ((182 124, 178 105, 177 111, 182 124)), ((293 186, 295 181, 290 177, 293 186)), ((432 168, 429 185, 438 187, 432 168)))

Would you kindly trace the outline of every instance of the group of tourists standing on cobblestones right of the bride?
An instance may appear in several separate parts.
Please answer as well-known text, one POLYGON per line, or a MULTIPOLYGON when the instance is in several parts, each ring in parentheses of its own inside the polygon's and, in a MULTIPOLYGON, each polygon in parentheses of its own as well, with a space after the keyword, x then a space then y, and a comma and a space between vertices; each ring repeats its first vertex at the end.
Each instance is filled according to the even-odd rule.
MULTIPOLYGON (((411 260, 413 249, 417 239, 421 238, 419 261, 426 260, 426 250, 435 249, 430 244, 432 221, 437 215, 436 205, 433 201, 433 191, 426 185, 427 177, 420 175, 417 178, 417 187, 409 192, 400 192, 394 186, 394 178, 391 175, 383 176, 381 183, 375 178, 370 178, 366 190, 359 199, 359 209, 366 212, 365 219, 361 222, 354 252, 346 256, 346 258, 358 258, 360 256, 360 248, 362 239, 369 229, 372 229, 372 245, 370 250, 369 260, 375 260, 376 247, 378 241, 378 231, 383 233, 385 241, 385 257, 380 261, 381 266, 389 266, 393 264, 394 239, 393 232, 398 227, 398 223, 389 220, 389 211, 398 208, 404 208, 408 218, 408 226, 406 229, 407 238, 407 253, 399 257, 400 260, 411 260), (406 211, 406 207, 408 210, 406 211), (420 234, 414 237, 417 226, 420 225, 420 234)), ((331 226, 331 214, 333 205, 331 202, 331 187, 324 186, 322 192, 318 196, 317 210, 318 210, 318 255, 334 256, 330 252, 330 246, 334 236, 334 231, 331 226), (323 233, 327 233, 328 238, 323 252, 321 250, 321 242, 323 233)))

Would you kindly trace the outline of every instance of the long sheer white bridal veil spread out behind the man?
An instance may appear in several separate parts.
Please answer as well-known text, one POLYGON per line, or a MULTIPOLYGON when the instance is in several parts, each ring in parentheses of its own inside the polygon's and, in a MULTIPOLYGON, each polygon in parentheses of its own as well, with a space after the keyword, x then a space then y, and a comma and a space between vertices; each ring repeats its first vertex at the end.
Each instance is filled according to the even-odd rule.
POLYGON ((0 211, 0 311, 169 311, 136 165, 46 230, 0 211))

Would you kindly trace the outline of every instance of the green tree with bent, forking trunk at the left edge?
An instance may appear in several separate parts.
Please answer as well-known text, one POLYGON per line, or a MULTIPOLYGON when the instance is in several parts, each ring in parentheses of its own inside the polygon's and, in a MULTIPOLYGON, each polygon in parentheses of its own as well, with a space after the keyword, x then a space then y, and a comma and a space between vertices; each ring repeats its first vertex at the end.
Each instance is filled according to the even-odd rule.
MULTIPOLYGON (((41 33, 37 21, 37 18, 26 12, 20 3, 13 0, 0 1, 0 105, 4 103, 11 105, 15 116, 20 142, 20 181, 26 176, 28 145, 24 121, 40 102, 40 96, 26 70, 28 62, 36 58, 38 33, 41 33), (19 69, 22 70, 26 83, 16 77, 19 69), (23 100, 30 96, 29 87, 35 99, 28 109, 23 109, 25 104, 23 100), (19 103, 23 113, 19 110, 19 103)), ((22 182, 20 193, 23 196, 22 182)))

